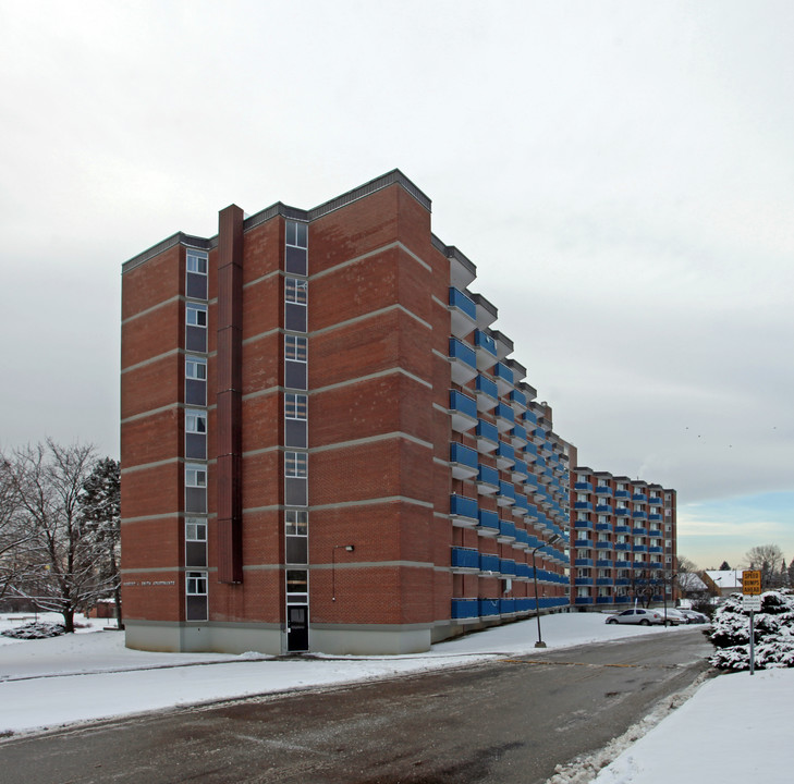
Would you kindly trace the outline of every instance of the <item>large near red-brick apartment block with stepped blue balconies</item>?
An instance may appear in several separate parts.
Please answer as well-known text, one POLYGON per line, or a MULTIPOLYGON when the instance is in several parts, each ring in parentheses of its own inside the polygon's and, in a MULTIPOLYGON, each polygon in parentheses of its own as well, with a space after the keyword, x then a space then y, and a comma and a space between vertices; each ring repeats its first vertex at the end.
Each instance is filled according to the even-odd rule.
POLYGON ((571 448, 430 206, 395 170, 124 264, 129 647, 423 651, 569 605, 571 448))

